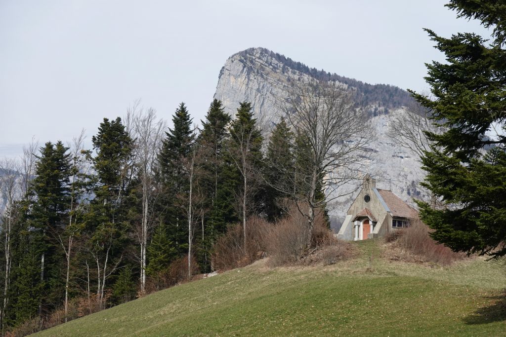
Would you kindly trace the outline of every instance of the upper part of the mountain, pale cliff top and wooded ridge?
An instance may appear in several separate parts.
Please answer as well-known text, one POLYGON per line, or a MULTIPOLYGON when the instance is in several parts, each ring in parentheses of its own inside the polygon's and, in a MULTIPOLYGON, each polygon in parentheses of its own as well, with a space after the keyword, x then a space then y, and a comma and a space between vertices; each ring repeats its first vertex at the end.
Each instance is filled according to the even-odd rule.
POLYGON ((370 116, 388 113, 412 102, 409 93, 388 84, 368 84, 356 79, 310 68, 284 55, 265 48, 249 48, 228 58, 220 71, 215 98, 233 115, 239 102, 248 101, 257 116, 275 121, 277 103, 286 97, 294 81, 315 78, 335 81, 355 90, 357 106, 366 108, 370 116))

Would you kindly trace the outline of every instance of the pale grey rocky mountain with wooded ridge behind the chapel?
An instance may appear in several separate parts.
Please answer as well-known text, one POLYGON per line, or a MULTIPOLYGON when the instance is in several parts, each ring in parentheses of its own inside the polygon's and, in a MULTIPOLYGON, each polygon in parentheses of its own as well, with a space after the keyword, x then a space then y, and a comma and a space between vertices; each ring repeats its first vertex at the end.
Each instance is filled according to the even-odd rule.
MULTIPOLYGON (((220 71, 215 98, 223 102, 231 116, 239 102, 251 102, 255 115, 268 125, 279 119, 279 104, 286 98, 292 83, 309 77, 333 80, 343 87, 353 88, 357 106, 368 111, 374 126, 374 139, 363 148, 362 154, 357 154, 370 158, 368 165, 357 167, 357 170, 370 173, 377 179, 378 188, 391 189, 403 200, 409 202, 419 196, 418 182, 423 179, 419 159, 387 136, 392 117, 404 113, 403 106, 410 102, 409 94, 398 87, 371 85, 318 71, 266 49, 254 48, 234 54, 227 60, 220 71)), ((357 185, 345 186, 344 189, 355 192, 328 204, 334 229, 341 225, 358 194, 357 188, 357 185)))

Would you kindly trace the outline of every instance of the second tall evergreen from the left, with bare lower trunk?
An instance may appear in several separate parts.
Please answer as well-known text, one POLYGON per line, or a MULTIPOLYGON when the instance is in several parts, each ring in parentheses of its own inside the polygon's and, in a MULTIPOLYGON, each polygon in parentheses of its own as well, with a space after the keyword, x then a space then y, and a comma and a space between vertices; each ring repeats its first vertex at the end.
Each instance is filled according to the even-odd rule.
POLYGON ((88 250, 97 267, 97 296, 104 299, 107 278, 118 267, 128 243, 128 212, 133 176, 133 140, 121 119, 100 123, 92 137, 96 172, 88 215, 88 250))

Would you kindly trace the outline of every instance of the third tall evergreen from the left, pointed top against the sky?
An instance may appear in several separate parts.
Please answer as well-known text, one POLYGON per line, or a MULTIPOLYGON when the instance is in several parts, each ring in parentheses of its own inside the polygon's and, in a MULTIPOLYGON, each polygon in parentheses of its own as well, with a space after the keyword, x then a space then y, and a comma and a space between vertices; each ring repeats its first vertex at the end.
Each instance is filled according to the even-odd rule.
POLYGON ((179 207, 178 196, 189 189, 182 159, 190 154, 195 135, 191 128, 192 118, 184 103, 179 105, 172 121, 174 127, 166 132, 158 156, 159 176, 164 188, 160 206, 169 239, 175 244, 177 255, 182 256, 188 249, 188 219, 186 212, 179 207))

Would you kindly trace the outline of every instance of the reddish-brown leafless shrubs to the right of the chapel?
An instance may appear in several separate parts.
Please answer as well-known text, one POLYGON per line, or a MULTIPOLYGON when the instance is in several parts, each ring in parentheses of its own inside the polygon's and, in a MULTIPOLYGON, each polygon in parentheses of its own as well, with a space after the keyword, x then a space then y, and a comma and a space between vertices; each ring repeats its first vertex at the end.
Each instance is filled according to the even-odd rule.
POLYGON ((419 256, 425 262, 449 265, 466 258, 465 253, 455 253, 450 248, 437 244, 429 233, 432 230, 420 219, 411 221, 409 227, 397 234, 395 245, 409 253, 419 256))

